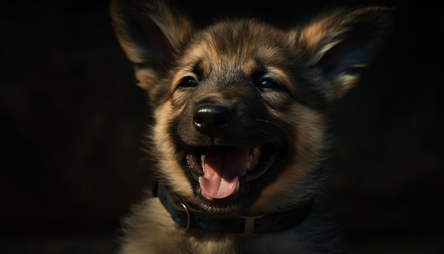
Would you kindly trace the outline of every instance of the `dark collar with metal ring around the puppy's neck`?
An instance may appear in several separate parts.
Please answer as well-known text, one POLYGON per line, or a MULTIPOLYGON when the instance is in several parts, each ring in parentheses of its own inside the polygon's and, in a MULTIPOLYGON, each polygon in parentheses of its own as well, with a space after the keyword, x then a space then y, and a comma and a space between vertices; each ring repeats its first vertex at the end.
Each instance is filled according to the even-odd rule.
POLYGON ((191 211, 189 206, 179 201, 167 187, 155 184, 153 196, 158 196, 171 218, 184 228, 200 228, 208 231, 237 233, 242 236, 252 236, 259 233, 285 231, 294 228, 311 213, 313 202, 299 206, 282 214, 265 214, 260 216, 238 216, 235 218, 214 218, 199 211, 191 211))

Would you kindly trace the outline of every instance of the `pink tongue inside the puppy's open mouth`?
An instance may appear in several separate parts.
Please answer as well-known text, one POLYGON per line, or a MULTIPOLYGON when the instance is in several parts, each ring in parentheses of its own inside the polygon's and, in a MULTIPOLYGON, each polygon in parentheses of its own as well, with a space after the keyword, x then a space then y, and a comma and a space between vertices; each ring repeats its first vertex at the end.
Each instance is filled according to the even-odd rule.
POLYGON ((206 151, 204 175, 199 177, 201 194, 223 199, 235 191, 238 177, 247 172, 248 148, 210 146, 206 151))

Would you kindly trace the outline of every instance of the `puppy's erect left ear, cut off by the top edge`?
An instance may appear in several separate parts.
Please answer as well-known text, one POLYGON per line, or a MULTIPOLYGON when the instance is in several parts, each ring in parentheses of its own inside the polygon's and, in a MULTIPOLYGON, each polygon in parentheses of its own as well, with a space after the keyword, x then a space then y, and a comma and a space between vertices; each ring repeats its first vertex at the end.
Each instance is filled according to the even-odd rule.
POLYGON ((162 0, 112 0, 111 18, 126 56, 144 69, 140 82, 167 72, 192 34, 191 23, 162 0))

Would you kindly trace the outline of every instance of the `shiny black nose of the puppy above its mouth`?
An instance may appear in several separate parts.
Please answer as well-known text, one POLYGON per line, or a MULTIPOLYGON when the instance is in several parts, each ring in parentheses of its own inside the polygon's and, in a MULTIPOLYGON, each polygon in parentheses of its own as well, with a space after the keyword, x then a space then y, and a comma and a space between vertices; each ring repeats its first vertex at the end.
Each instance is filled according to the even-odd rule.
POLYGON ((226 131, 230 122, 230 109, 220 105, 202 104, 194 110, 193 118, 196 130, 213 138, 226 131))

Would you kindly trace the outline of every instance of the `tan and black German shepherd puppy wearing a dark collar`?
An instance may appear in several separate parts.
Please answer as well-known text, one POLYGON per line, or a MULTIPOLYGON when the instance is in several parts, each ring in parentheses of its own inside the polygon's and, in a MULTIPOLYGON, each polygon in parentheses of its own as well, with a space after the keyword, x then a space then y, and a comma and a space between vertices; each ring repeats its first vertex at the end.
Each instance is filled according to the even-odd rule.
POLYGON ((111 2, 148 92, 158 186, 125 220, 121 253, 343 253, 316 209, 331 108, 389 29, 383 7, 283 31, 236 19, 196 28, 165 1, 111 2))

